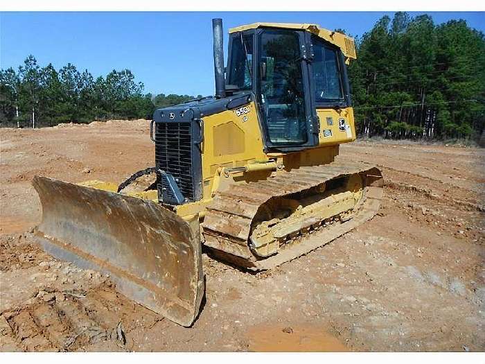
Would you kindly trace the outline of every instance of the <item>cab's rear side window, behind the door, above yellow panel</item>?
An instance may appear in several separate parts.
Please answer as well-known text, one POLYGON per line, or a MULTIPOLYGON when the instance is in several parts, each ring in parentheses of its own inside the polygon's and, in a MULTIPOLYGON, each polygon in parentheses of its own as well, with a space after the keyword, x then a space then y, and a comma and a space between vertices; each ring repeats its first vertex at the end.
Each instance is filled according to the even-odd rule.
POLYGON ((317 103, 328 103, 343 99, 344 93, 337 50, 318 40, 314 41, 313 49, 315 52, 315 58, 312 62, 315 101, 317 103))

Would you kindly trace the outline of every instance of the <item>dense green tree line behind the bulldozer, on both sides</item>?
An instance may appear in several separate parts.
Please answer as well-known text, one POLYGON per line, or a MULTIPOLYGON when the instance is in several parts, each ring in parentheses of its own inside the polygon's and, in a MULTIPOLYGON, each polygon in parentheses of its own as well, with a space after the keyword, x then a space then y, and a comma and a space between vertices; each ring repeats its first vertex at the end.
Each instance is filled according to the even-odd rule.
MULTIPOLYGON (((358 59, 351 62, 349 78, 359 135, 428 140, 482 135, 482 32, 464 20, 434 24, 429 15, 396 12, 355 43, 358 59)), ((0 70, 0 126, 149 119, 157 107, 193 98, 143 90, 128 69, 94 78, 73 64, 39 67, 29 55, 17 70, 0 70)))

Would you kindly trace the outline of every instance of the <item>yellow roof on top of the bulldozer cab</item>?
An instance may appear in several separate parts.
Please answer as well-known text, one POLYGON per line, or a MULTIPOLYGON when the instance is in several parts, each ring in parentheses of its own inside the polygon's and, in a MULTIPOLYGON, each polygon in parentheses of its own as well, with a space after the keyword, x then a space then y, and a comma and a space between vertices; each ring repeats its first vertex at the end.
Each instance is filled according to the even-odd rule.
POLYGON ((326 40, 342 49, 342 52, 347 58, 357 58, 355 54, 355 43, 353 38, 348 37, 342 33, 337 33, 329 31, 328 29, 321 28, 318 24, 306 24, 306 23, 252 23, 242 26, 236 26, 235 28, 229 29, 229 34, 248 31, 249 29, 256 28, 283 28, 283 29, 294 29, 308 31, 312 34, 317 35, 321 39, 326 40))

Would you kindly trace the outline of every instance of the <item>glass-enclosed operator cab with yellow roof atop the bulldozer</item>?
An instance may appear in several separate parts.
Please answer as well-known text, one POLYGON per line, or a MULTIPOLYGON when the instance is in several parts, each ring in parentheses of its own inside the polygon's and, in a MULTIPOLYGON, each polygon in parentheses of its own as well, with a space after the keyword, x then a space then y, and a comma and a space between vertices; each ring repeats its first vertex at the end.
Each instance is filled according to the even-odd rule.
POLYGON ((229 30, 227 91, 256 96, 268 150, 317 146, 317 109, 351 106, 345 55, 321 31, 331 34, 309 24, 256 23, 229 30))

